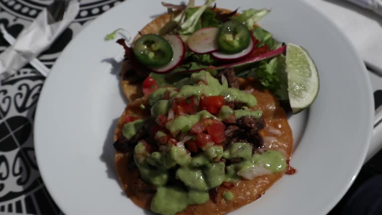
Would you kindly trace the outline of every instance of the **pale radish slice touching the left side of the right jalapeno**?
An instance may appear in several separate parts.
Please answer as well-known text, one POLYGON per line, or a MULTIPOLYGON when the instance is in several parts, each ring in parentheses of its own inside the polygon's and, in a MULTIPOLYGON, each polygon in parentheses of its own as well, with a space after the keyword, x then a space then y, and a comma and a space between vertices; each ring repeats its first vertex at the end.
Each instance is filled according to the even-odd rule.
POLYGON ((187 40, 191 51, 197 54, 205 54, 217 50, 216 36, 219 28, 202 28, 193 33, 187 40))

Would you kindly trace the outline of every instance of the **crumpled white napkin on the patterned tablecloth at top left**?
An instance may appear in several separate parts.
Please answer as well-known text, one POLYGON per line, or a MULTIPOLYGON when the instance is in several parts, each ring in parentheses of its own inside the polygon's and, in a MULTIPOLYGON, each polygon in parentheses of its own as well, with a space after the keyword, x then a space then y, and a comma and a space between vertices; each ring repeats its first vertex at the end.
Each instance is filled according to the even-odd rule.
POLYGON ((16 41, 0 54, 0 80, 14 74, 41 52, 49 48, 53 41, 74 20, 80 4, 71 0, 63 20, 52 24, 47 22, 47 11, 43 9, 37 18, 17 36, 16 41))

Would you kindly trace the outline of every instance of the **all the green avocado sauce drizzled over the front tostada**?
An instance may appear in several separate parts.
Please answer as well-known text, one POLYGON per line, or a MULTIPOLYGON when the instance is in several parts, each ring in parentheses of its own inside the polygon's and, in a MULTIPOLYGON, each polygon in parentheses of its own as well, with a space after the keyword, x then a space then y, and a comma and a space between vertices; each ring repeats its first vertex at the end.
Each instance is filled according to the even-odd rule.
MULTIPOLYGON (((228 88, 227 82, 220 84, 207 71, 193 73, 174 84, 174 87, 159 88, 149 96, 151 115, 167 115, 174 98, 187 98, 190 96, 224 96, 226 101, 239 101, 247 107, 256 106, 257 100, 235 88, 228 88), (165 96, 166 95, 166 96, 165 96), (166 98, 165 98, 166 97, 166 98)), ((203 118, 224 120, 235 114, 236 118, 245 115, 260 118, 261 110, 251 111, 249 108, 233 110, 228 106, 220 108, 217 116, 206 110, 195 114, 179 115, 166 123, 166 128, 173 136, 179 132, 188 132, 191 127, 203 118)), ((138 119, 126 123, 123 135, 129 139, 141 128, 145 120, 138 119)), ((163 131, 155 134, 155 139, 166 135, 163 131)), ((209 200, 208 190, 220 186, 223 181, 237 181, 242 179, 239 173, 251 171, 251 168, 265 168, 270 172, 284 171, 286 160, 278 151, 267 151, 252 155, 252 145, 236 142, 230 144, 226 150, 220 145, 203 148, 191 157, 184 147, 168 145, 168 150, 162 152, 147 151, 144 142, 138 142, 134 149, 134 161, 140 171, 141 177, 147 183, 157 186, 157 192, 151 201, 151 210, 162 215, 175 215, 186 209, 189 205, 199 205, 209 200), (242 161, 226 166, 221 158, 241 158, 242 161), (175 175, 174 175, 175 174, 175 175), (169 185, 170 177, 183 182, 185 187, 169 185)), ((172 180, 171 180, 172 181, 172 180)), ((234 198, 231 192, 225 192, 223 198, 230 201, 234 198)))

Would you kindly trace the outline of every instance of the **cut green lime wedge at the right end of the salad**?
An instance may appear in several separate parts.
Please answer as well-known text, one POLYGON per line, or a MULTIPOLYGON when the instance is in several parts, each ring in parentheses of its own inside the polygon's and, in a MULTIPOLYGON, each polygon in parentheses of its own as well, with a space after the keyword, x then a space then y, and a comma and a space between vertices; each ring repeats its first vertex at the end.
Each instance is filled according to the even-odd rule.
POLYGON ((293 113, 308 108, 319 89, 317 68, 308 52, 301 46, 286 44, 286 73, 288 96, 293 113))

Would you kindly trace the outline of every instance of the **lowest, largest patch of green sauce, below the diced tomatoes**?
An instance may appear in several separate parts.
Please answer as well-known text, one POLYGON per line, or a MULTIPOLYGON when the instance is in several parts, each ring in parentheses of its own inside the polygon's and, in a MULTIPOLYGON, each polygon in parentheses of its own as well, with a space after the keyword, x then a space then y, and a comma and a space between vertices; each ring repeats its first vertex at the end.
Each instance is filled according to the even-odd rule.
MULTIPOLYGON (((284 171, 286 160, 279 151, 266 151, 252 155, 252 145, 233 143, 223 151, 220 145, 214 145, 191 157, 183 147, 171 145, 168 151, 149 153, 143 142, 134 149, 134 161, 142 179, 157 186, 157 192, 151 201, 151 210, 162 215, 175 215, 189 205, 199 205, 209 200, 208 190, 220 186, 223 181, 241 179, 238 172, 247 171, 252 166, 261 165, 270 172, 284 171), (242 158, 243 161, 225 166, 225 159, 242 158), (166 186, 169 169, 176 168, 175 177, 187 187, 166 186)), ((225 192, 223 198, 230 201, 232 193, 225 192)))

